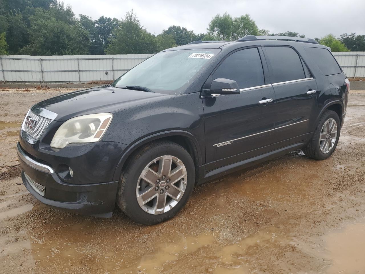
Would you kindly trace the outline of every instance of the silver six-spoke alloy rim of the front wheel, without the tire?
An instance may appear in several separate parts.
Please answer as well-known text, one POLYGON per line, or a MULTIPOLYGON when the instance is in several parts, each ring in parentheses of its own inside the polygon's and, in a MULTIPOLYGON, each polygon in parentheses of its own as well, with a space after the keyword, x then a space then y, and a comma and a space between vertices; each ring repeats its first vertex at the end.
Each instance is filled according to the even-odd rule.
POLYGON ((168 212, 180 201, 187 184, 187 171, 177 157, 157 157, 141 172, 137 183, 137 201, 147 213, 168 212))

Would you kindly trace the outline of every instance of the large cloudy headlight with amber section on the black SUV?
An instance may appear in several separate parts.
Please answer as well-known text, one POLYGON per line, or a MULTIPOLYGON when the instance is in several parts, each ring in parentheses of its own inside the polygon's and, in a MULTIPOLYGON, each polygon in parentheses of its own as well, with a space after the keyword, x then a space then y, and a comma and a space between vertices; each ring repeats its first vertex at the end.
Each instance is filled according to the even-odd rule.
POLYGON ((70 143, 97 142, 107 131, 113 114, 98 113, 82 115, 64 122, 51 141, 51 147, 64 148, 70 143))

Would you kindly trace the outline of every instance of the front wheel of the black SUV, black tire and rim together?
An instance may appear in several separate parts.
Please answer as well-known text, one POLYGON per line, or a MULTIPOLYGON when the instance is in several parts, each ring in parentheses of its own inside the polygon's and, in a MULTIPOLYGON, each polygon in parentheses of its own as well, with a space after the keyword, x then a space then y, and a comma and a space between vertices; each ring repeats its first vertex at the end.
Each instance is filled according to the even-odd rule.
POLYGON ((195 165, 190 154, 174 142, 156 141, 143 146, 132 156, 120 176, 117 204, 129 218, 139 224, 158 224, 172 218, 183 208, 194 185, 195 165), (168 168, 169 161, 172 163, 171 168, 168 168), (162 163, 167 163, 166 169, 162 163), (182 178, 176 183, 173 182, 180 177, 182 178), (177 195, 181 190, 183 193, 177 195), (154 197, 149 200, 152 195, 154 197), (163 203, 165 206, 161 206, 163 203))

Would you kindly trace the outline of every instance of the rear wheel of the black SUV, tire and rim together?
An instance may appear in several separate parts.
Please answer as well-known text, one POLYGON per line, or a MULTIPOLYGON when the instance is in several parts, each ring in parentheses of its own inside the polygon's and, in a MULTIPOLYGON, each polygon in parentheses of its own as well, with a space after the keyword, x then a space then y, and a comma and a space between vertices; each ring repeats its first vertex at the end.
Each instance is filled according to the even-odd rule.
POLYGON ((339 137, 340 137, 340 120, 338 114, 335 113, 333 110, 325 110, 322 116, 318 120, 318 123, 316 125, 311 140, 308 142, 307 146, 303 148, 303 152, 305 155, 307 155, 312 159, 316 160, 327 159, 335 151, 339 137), (322 132, 322 128, 325 126, 324 125, 325 123, 326 125, 334 125, 333 123, 331 124, 333 120, 336 122, 336 128, 333 129, 331 134, 330 133, 328 135, 326 134, 325 132, 326 128, 324 128, 324 131, 322 132), (327 123, 327 121, 329 121, 329 123, 327 123), (336 136, 331 138, 331 136, 333 136, 334 133, 336 133, 336 136), (327 136, 329 136, 328 139, 327 136), (328 146, 326 146, 326 148, 323 148, 323 145, 326 145, 324 143, 326 141, 323 141, 323 138, 325 137, 326 140, 328 140, 327 141, 328 146))

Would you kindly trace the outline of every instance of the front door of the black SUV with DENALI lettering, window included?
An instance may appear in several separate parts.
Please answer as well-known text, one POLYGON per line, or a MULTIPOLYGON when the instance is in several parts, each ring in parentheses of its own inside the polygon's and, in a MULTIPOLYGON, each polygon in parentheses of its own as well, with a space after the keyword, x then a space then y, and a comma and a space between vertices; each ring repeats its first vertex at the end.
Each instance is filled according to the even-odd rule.
POLYGON ((268 70, 265 60, 261 62, 260 50, 238 50, 212 74, 211 80, 237 81, 241 93, 203 98, 207 171, 269 152, 275 94, 273 87, 265 83, 262 65, 266 73, 268 70))

